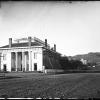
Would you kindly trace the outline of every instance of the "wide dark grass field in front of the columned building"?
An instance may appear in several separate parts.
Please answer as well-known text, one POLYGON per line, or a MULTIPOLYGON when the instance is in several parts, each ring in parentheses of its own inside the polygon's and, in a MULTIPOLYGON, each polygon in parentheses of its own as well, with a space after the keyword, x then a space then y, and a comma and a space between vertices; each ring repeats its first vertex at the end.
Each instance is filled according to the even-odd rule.
POLYGON ((0 97, 100 98, 100 73, 6 73, 0 77, 0 97))

